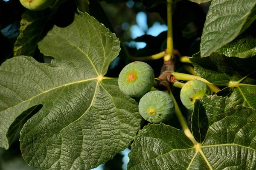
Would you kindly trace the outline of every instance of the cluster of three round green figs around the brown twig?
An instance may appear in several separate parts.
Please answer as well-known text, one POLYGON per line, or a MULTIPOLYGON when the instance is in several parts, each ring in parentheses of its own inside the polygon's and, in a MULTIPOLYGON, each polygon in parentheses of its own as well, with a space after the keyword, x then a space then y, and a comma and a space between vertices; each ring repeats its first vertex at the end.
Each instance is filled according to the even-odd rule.
MULTIPOLYGON (((141 98, 139 102, 140 115, 151 123, 167 122, 175 113, 175 102, 163 91, 150 91, 154 84, 154 71, 145 62, 132 62, 126 65, 118 78, 120 90, 131 97, 141 98)), ((210 95, 206 83, 200 80, 190 80, 180 91, 183 105, 193 110, 196 99, 210 95)))

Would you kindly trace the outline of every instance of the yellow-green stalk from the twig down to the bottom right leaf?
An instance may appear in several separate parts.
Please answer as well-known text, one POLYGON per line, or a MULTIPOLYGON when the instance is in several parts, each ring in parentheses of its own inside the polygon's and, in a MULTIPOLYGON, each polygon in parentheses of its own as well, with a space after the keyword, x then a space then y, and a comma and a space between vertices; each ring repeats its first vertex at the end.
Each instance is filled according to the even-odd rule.
POLYGON ((174 103, 175 103, 175 114, 180 122, 181 127, 183 128, 183 131, 185 133, 185 135, 193 142, 193 144, 197 144, 198 142, 196 142, 194 136, 192 135, 191 131, 189 130, 188 125, 186 124, 183 115, 180 111, 179 105, 177 104, 172 92, 169 92, 169 95, 172 97, 174 103))

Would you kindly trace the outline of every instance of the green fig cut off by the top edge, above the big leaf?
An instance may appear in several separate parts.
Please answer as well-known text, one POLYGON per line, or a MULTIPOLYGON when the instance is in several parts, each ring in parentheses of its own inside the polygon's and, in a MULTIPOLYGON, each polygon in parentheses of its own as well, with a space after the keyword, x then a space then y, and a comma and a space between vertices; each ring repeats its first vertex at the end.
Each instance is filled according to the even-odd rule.
POLYGON ((20 0, 20 3, 32 11, 40 11, 48 8, 55 0, 20 0))

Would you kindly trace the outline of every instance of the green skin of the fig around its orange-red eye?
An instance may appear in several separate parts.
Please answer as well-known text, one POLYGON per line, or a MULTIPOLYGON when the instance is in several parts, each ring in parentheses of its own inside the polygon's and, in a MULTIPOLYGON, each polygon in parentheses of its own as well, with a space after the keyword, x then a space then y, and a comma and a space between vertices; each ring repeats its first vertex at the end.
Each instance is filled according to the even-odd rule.
POLYGON ((132 62, 126 65, 119 74, 118 85, 120 90, 131 97, 141 97, 147 93, 154 84, 154 71, 145 62, 132 62), (130 82, 128 75, 133 72, 136 79, 130 82))

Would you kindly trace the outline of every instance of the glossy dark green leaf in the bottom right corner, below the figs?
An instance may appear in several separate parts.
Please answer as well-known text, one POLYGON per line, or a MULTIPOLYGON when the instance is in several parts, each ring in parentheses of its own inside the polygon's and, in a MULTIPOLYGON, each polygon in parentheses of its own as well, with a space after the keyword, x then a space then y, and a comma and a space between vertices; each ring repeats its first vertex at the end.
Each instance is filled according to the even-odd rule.
POLYGON ((145 126, 131 145, 128 170, 256 169, 255 121, 252 108, 204 96, 192 114, 192 133, 200 144, 169 125, 145 126))

